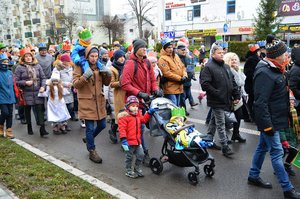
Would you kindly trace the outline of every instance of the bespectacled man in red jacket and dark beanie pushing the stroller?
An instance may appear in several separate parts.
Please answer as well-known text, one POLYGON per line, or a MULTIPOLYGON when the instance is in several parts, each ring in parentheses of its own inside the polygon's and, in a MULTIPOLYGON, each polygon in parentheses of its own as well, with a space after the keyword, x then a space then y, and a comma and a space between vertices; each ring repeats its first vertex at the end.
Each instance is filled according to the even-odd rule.
MULTIPOLYGON (((159 91, 157 80, 155 78, 154 70, 152 64, 150 64, 149 59, 146 58, 147 43, 140 38, 133 40, 133 49, 134 52, 130 54, 128 61, 124 65, 122 72, 122 83, 121 88, 125 91, 124 103, 127 102, 127 98, 131 95, 136 96, 139 99, 140 107, 142 114, 146 113, 146 108, 144 107, 141 99, 143 98, 146 101, 149 101, 150 91, 153 91, 153 94, 156 97, 162 97, 162 92, 159 91), (134 75, 135 64, 137 62, 137 73, 134 75), (148 70, 148 65, 150 69, 148 70)), ((144 130, 145 124, 141 124, 141 144, 145 153, 143 158, 143 163, 146 166, 149 166, 150 157, 148 154, 148 149, 144 141, 144 130)))

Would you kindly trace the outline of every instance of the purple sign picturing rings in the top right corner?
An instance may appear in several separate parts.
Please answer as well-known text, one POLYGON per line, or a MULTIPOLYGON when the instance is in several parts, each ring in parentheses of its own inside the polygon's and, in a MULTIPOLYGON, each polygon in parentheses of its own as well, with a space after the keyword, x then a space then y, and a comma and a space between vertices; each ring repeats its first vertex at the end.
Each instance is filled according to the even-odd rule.
POLYGON ((278 13, 282 16, 293 16, 300 14, 299 0, 279 1, 278 13))

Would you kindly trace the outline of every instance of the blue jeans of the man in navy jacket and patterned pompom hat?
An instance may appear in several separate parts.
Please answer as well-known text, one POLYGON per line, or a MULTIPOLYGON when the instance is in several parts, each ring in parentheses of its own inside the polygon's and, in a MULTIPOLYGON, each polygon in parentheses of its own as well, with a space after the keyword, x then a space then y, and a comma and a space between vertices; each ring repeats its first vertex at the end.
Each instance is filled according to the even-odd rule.
POLYGON ((286 174, 282 163, 283 149, 280 144, 279 131, 275 131, 274 136, 268 136, 265 135, 265 133, 260 132, 259 142, 253 155, 252 167, 249 171, 249 177, 253 179, 259 178, 262 163, 265 160, 267 151, 270 151, 272 166, 283 191, 285 192, 294 188, 289 182, 289 177, 286 174))

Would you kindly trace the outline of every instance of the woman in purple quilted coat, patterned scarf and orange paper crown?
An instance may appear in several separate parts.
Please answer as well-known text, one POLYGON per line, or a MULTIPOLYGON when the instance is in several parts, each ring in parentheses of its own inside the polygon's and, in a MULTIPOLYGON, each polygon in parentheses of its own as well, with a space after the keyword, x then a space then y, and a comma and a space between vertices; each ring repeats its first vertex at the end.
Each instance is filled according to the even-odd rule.
POLYGON ((23 90, 24 100, 26 102, 24 115, 27 123, 27 131, 29 135, 33 134, 31 108, 32 105, 35 105, 38 122, 40 123, 40 135, 43 137, 49 133, 46 132, 44 125, 44 98, 38 97, 38 93, 45 91, 46 77, 42 67, 38 64, 38 60, 32 56, 29 48, 22 49, 20 54, 22 55, 19 59, 20 65, 16 68, 14 75, 16 82, 18 82, 19 87, 23 90))

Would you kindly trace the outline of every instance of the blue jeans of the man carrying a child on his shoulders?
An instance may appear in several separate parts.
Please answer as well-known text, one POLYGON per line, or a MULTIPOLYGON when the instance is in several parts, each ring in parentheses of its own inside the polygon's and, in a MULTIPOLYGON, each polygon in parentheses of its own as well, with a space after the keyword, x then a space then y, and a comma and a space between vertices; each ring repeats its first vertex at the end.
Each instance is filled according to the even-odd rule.
POLYGON ((85 138, 88 150, 96 147, 94 138, 106 127, 106 117, 101 120, 96 120, 97 126, 94 128, 94 120, 85 119, 85 138))

